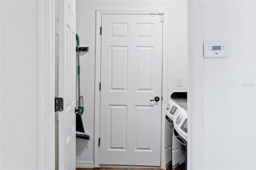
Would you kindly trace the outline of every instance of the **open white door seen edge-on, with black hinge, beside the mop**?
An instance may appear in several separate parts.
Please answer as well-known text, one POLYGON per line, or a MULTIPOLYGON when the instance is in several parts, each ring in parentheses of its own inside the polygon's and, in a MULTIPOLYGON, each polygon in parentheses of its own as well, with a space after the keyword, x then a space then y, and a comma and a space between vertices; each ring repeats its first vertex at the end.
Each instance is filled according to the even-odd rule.
POLYGON ((59 169, 76 169, 76 1, 59 1, 59 169))

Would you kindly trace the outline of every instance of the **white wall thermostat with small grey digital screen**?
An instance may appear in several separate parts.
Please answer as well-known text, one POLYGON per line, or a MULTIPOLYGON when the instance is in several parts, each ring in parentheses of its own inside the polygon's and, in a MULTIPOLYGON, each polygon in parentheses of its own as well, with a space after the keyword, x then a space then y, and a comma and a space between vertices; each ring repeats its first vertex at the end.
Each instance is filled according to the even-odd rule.
POLYGON ((204 42, 204 57, 229 57, 229 44, 227 42, 204 42))

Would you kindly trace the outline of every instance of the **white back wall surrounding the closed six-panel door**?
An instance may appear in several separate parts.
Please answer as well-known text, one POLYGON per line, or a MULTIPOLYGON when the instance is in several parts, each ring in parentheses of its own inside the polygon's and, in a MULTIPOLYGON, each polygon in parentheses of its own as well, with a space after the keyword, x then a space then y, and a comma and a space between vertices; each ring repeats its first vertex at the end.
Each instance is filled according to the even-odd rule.
MULTIPOLYGON (((76 160, 92 162, 94 158, 94 66, 96 9, 168 10, 168 96, 174 91, 187 91, 187 2, 186 1, 76 1, 76 33, 80 46, 89 52, 80 56, 81 95, 85 113, 82 116, 91 140, 76 140, 76 160), (176 87, 176 77, 183 77, 183 87, 176 87)), ((167 100, 167 99, 166 99, 167 100)), ((97 140, 97 139, 96 139, 97 140)))

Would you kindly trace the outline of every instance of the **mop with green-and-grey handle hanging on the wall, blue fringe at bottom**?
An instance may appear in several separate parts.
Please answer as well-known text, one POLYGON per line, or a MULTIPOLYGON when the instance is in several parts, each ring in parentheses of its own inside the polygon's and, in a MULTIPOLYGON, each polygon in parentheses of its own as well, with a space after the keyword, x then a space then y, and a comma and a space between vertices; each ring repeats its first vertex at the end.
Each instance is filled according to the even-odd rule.
MULTIPOLYGON (((82 138, 86 140, 90 140, 90 135, 84 132, 84 125, 82 121, 82 114, 84 113, 84 99, 80 95, 80 49, 79 47, 79 37, 76 34, 77 41, 77 52, 78 52, 78 66, 77 66, 77 74, 78 74, 78 109, 76 109, 76 137, 82 138)), ((84 50, 83 50, 84 51, 84 50)))

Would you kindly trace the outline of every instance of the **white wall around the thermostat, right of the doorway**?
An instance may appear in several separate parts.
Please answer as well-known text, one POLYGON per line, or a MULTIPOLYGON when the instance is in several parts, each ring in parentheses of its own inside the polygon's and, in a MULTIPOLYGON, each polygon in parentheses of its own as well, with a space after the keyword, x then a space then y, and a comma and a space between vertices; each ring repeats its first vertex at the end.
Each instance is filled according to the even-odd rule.
POLYGON ((255 22, 255 1, 204 2, 204 40, 230 42, 204 58, 204 169, 256 169, 255 22))

